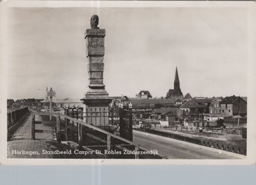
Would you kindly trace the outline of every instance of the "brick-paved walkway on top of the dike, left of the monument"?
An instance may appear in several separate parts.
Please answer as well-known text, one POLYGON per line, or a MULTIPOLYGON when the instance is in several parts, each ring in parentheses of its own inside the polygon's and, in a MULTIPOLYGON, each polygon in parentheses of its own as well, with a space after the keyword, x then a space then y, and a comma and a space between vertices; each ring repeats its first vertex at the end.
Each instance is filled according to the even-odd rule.
POLYGON ((42 121, 42 124, 35 124, 35 129, 44 130, 44 133, 35 133, 36 139, 31 140, 32 112, 36 110, 29 111, 19 123, 19 128, 8 133, 8 158, 100 158, 95 154, 74 154, 75 147, 56 142, 56 122, 42 121, 40 115, 35 116, 35 121, 42 121))

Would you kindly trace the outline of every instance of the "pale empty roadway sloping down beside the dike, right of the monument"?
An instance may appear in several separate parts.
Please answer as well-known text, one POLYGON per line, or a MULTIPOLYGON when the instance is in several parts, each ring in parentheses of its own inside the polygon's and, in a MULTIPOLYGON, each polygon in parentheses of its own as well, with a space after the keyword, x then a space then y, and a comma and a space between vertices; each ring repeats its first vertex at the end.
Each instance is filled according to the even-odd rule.
POLYGON ((149 150, 157 149, 161 156, 169 159, 239 159, 245 157, 232 152, 135 130, 133 131, 133 142, 149 150))

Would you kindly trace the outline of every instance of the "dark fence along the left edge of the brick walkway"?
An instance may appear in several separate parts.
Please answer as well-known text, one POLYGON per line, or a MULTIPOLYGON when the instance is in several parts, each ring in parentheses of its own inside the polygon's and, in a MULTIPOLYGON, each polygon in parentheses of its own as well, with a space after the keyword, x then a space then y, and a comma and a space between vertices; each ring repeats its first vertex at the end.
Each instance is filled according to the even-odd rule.
POLYGON ((11 126, 13 126, 13 124, 19 121, 27 113, 28 107, 7 112, 7 128, 9 129, 11 126))

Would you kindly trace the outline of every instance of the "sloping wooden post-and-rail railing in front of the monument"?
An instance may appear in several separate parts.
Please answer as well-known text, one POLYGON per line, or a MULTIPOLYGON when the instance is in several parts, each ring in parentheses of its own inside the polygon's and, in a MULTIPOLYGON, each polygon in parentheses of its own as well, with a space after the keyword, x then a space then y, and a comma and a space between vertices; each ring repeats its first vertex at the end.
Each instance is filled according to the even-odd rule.
MULTIPOLYGON (((56 139, 58 142, 61 142, 61 120, 65 120, 65 140, 68 141, 67 131, 70 126, 68 126, 67 122, 72 122, 75 126, 72 128, 74 131, 76 131, 78 136, 78 147, 81 147, 83 149, 88 149, 88 147, 83 145, 83 129, 90 130, 90 133, 86 133, 88 137, 92 137, 95 140, 100 140, 100 142, 103 142, 106 144, 107 151, 111 152, 111 149, 118 148, 121 150, 131 151, 132 154, 134 154, 135 159, 143 158, 143 155, 141 156, 141 152, 148 152, 148 149, 145 147, 141 147, 137 144, 134 144, 134 142, 131 142, 130 140, 127 140, 125 138, 122 138, 118 135, 115 135, 113 133, 109 133, 108 131, 101 129, 97 126, 93 126, 91 124, 88 124, 84 122, 83 120, 79 120, 73 117, 70 117, 65 114, 60 113, 54 113, 54 112, 36 112, 33 113, 33 119, 31 124, 31 138, 35 140, 35 115, 53 115, 56 117, 56 139), (100 133, 100 136, 95 134, 100 133)), ((159 155, 154 156, 154 158, 162 158, 159 155)))

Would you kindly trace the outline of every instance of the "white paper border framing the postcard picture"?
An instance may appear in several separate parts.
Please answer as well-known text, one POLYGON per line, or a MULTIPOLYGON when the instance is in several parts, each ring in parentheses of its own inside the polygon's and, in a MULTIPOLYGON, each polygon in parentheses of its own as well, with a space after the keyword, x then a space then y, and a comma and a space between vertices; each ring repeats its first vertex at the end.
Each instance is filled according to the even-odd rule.
POLYGON ((256 4, 253 1, 2 1, 1 2, 1 63, 0 63, 0 163, 3 165, 255 165, 256 163, 256 119, 253 105, 256 84, 256 4), (246 159, 8 159, 6 135, 6 61, 8 61, 6 23, 8 8, 111 8, 111 7, 193 7, 193 8, 237 8, 248 10, 248 138, 246 159))

